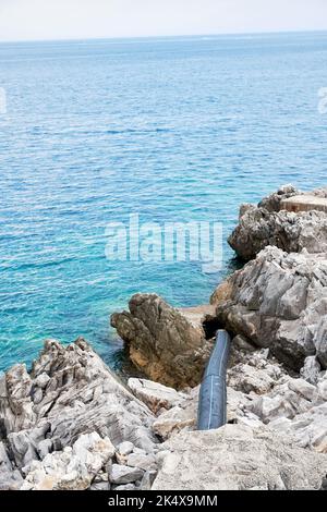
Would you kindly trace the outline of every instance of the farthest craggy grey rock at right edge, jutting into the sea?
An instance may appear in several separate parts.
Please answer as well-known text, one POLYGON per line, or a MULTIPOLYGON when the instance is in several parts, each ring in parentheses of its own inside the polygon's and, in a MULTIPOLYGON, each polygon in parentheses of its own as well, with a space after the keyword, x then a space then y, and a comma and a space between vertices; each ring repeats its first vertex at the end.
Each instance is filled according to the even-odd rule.
MULTIPOLYGON (((323 193, 313 192, 312 195, 323 193)), ((289 253, 303 248, 308 253, 327 251, 326 212, 281 210, 282 200, 299 194, 288 185, 263 199, 257 207, 241 210, 239 225, 229 237, 229 244, 240 257, 250 260, 268 245, 289 253)))

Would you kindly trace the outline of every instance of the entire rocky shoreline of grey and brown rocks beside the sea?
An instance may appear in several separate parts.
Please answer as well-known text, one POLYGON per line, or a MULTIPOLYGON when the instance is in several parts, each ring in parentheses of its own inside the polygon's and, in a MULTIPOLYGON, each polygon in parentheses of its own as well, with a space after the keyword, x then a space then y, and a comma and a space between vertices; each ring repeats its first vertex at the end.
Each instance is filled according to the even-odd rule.
POLYGON ((280 188, 243 205, 229 242, 245 261, 210 304, 137 294, 112 315, 145 378, 124 385, 87 342, 45 342, 0 379, 0 489, 327 487, 327 214, 280 188), (301 203, 301 202, 300 202, 301 203), (228 424, 196 431, 215 332, 233 338, 228 424), (150 379, 150 380, 149 380, 150 379))

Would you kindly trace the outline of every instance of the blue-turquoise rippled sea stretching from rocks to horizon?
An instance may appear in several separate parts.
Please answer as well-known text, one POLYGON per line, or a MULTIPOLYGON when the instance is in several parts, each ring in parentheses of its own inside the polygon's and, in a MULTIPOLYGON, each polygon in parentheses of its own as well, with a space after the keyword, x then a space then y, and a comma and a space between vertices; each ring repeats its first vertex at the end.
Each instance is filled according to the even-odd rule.
POLYGON ((221 221, 280 184, 326 184, 327 34, 0 45, 0 369, 47 337, 110 364, 138 291, 205 303, 230 271, 112 263, 108 222, 221 221))

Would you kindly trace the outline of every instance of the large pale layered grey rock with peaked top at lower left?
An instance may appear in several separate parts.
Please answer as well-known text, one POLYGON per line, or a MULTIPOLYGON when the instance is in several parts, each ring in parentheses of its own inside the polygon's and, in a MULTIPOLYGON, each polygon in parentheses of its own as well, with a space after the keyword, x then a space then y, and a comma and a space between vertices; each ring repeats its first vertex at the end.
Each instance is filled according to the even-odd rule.
MULTIPOLYGON (((83 339, 66 348, 48 340, 29 375, 24 365, 16 365, 0 379, 1 432, 14 463, 26 472, 37 463, 39 478, 29 475, 31 481, 25 480, 28 488, 61 486, 56 475, 44 484, 45 465, 52 461, 52 452, 58 452, 53 464, 57 461, 59 465, 65 448, 75 447, 76 452, 82 435, 96 431, 116 446, 130 441, 152 452, 157 442, 152 431, 154 419, 149 409, 83 339), (37 390, 41 390, 43 399, 35 402, 37 390)), ((78 467, 77 462, 75 465, 78 467)), ((64 478, 71 476, 72 480, 62 485, 69 488, 77 481, 84 487, 81 475, 64 478)))

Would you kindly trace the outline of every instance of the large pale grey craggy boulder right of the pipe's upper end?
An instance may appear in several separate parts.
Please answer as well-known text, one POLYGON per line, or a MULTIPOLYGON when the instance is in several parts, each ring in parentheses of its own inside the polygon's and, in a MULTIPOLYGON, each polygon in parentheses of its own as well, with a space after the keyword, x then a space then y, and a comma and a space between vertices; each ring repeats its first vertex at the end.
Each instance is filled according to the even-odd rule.
POLYGON ((296 371, 315 354, 326 365, 322 328, 327 314, 326 254, 287 254, 267 247, 228 283, 230 298, 217 305, 226 329, 269 348, 296 371))

